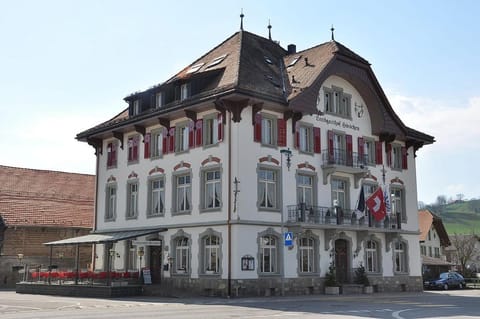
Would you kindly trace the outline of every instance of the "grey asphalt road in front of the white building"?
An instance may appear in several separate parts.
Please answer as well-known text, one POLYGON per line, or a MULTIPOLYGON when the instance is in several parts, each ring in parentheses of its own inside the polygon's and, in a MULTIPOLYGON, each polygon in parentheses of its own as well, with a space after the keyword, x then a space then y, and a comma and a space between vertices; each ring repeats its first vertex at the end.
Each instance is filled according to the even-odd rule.
POLYGON ((73 298, 0 291, 0 318, 479 318, 480 290, 268 298, 73 298))

